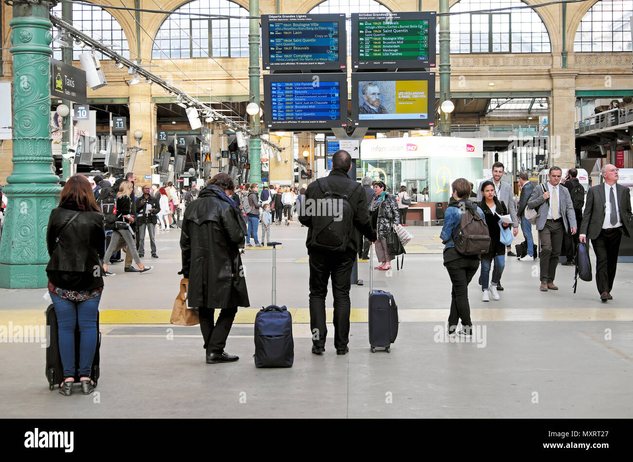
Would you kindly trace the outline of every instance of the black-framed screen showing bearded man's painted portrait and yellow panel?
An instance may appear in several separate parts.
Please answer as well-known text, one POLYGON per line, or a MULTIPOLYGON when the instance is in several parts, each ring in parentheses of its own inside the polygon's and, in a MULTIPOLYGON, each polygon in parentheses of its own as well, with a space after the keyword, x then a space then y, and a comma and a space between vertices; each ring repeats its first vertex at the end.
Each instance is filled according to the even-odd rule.
POLYGON ((380 128, 403 122, 399 125, 422 128, 434 122, 434 73, 362 73, 354 74, 352 82, 354 125, 380 128))

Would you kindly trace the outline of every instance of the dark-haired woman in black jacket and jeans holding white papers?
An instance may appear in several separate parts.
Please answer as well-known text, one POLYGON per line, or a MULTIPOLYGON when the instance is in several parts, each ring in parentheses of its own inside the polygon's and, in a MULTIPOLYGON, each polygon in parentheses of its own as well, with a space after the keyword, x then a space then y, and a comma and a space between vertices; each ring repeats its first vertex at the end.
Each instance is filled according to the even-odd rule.
POLYGON ((479 202, 479 207, 484 211, 488 232, 490 233, 490 250, 481 256, 481 276, 479 277, 479 282, 484 291, 484 295, 481 299, 483 301, 490 301, 490 297, 492 296, 492 300, 499 300, 497 284, 501 280, 501 274, 503 274, 503 269, 506 265, 506 246, 499 239, 501 234, 499 222, 501 221, 503 228, 510 226, 510 223, 502 219, 502 216, 508 214, 508 209, 494 194, 494 184, 492 184, 492 181, 484 181, 481 185, 481 190, 484 197, 481 202, 479 202), (492 281, 489 281, 492 260, 494 260, 494 271, 492 271, 492 281))

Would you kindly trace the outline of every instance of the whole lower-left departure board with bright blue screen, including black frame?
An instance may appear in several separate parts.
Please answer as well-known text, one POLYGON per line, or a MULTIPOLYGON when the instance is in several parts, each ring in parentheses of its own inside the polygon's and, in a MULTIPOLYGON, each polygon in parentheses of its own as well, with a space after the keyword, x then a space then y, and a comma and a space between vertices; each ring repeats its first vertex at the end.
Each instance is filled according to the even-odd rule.
POLYGON ((347 125, 345 74, 264 76, 267 128, 347 125))

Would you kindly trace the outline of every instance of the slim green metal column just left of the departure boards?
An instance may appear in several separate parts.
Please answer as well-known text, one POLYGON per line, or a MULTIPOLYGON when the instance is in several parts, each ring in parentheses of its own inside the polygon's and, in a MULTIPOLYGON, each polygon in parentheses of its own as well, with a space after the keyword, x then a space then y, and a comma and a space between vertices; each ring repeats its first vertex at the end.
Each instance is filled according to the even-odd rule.
MULTIPOLYGON (((250 0, 249 14, 260 15, 260 1, 250 0)), ((260 21, 257 18, 250 20, 248 33, 248 80, 251 97, 249 102, 260 104, 260 21)), ((251 183, 261 183, 261 140, 260 140, 260 114, 259 112, 250 118, 251 141, 248 145, 248 159, 251 163, 251 183)))

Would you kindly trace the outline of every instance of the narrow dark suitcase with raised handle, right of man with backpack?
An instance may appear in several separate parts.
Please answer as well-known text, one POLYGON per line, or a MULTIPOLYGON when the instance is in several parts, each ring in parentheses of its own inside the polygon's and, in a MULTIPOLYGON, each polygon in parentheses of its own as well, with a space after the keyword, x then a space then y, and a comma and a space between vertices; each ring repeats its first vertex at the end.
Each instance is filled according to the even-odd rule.
POLYGON ((389 353, 398 336, 398 306, 391 293, 373 290, 373 244, 369 252, 369 344, 372 353, 376 348, 389 353))

